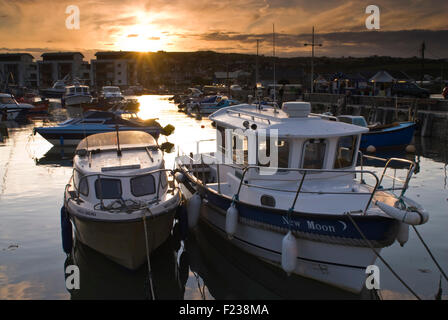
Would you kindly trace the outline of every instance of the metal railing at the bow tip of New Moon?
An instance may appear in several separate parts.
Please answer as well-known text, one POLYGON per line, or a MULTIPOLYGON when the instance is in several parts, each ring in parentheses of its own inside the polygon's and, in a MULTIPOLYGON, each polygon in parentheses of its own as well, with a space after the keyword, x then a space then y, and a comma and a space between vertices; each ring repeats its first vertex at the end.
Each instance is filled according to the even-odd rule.
MULTIPOLYGON (((376 160, 376 161, 381 161, 384 163, 384 169, 383 172, 381 174, 380 180, 379 180, 379 188, 381 188, 381 190, 383 191, 397 191, 399 190, 401 192, 400 197, 404 195, 404 193, 406 192, 406 190, 409 187, 409 181, 412 178, 412 174, 415 171, 416 168, 416 164, 414 161, 408 160, 408 159, 402 159, 402 158, 380 158, 380 157, 376 157, 376 156, 371 156, 371 155, 365 155, 363 154, 361 151, 358 151, 359 155, 360 155, 360 165, 361 165, 361 170, 364 168, 364 159, 367 160, 376 160), (396 168, 391 168, 391 164, 393 163, 401 163, 401 164, 405 164, 408 165, 407 167, 407 172, 405 174, 404 178, 400 178, 397 177, 397 169, 396 168), (394 174, 393 176, 390 175, 388 173, 389 169, 394 169, 394 174), (384 178, 389 178, 392 180, 392 186, 389 188, 384 188, 382 186, 382 183, 384 182, 384 178), (400 183, 401 185, 396 185, 396 183, 400 183)), ((361 180, 363 181, 363 176, 361 175, 361 180)))

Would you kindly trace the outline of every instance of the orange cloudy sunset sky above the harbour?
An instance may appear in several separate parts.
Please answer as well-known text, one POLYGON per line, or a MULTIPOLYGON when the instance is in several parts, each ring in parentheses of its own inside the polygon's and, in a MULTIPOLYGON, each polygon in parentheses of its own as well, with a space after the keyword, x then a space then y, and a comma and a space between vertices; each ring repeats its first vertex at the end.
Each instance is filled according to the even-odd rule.
POLYGON ((448 0, 0 0, 0 52, 99 50, 197 51, 304 56, 311 27, 323 43, 317 55, 448 57, 448 0), (365 9, 380 8, 380 27, 365 27, 365 9), (80 29, 68 30, 67 6, 80 9, 80 29))

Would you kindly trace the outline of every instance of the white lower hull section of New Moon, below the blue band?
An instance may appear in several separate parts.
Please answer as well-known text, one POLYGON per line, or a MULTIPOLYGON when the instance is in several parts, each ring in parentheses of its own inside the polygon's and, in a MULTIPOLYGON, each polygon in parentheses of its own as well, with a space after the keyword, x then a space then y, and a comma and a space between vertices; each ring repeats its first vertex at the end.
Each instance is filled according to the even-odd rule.
MULTIPOLYGON (((226 237, 225 216, 204 205, 201 218, 226 237)), ((232 244, 281 268, 282 239, 285 234, 239 223, 232 244)), ((295 274, 359 293, 364 285, 365 268, 375 262, 369 248, 333 245, 297 239, 299 258, 295 274)), ((380 250, 378 250, 380 251, 380 250)))

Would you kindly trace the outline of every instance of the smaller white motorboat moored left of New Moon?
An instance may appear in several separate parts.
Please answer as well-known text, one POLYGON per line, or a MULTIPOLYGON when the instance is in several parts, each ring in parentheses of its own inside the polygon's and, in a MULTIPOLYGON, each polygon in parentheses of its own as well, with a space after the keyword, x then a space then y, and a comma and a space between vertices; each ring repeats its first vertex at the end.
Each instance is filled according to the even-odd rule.
POLYGON ((76 239, 128 269, 139 268, 173 227, 180 194, 169 185, 169 173, 162 151, 145 132, 82 140, 64 194, 76 239))

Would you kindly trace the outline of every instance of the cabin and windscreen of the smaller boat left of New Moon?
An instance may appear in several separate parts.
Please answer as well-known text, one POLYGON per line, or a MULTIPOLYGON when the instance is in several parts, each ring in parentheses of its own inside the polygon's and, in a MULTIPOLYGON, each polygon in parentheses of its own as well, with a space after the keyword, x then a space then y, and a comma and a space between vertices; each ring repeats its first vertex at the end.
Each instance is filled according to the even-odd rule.
POLYGON ((142 131, 100 133, 83 139, 73 167, 75 190, 81 200, 92 204, 159 199, 168 188, 162 151, 142 131))

